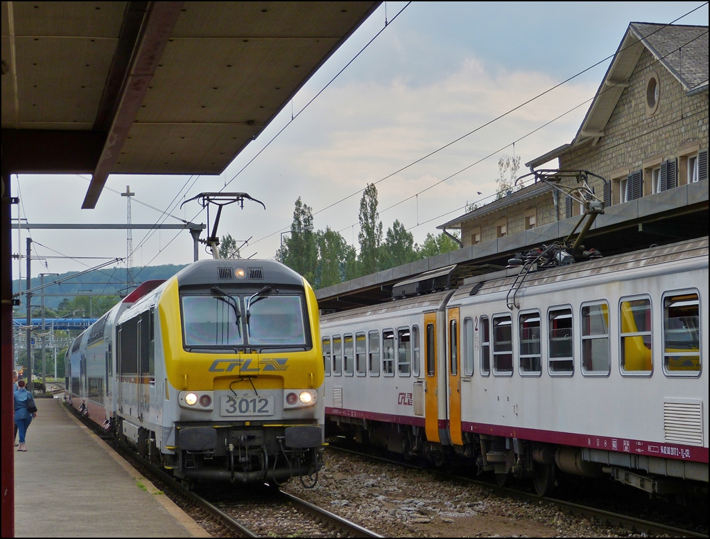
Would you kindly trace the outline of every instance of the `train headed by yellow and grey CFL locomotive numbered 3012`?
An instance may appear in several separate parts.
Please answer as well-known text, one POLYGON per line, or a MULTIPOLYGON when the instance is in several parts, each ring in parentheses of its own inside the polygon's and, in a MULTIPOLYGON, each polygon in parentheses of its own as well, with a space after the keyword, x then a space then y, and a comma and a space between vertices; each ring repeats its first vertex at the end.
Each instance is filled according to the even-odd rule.
POLYGON ((143 283, 68 356, 72 406, 184 482, 317 479, 317 301, 278 262, 202 260, 143 283))

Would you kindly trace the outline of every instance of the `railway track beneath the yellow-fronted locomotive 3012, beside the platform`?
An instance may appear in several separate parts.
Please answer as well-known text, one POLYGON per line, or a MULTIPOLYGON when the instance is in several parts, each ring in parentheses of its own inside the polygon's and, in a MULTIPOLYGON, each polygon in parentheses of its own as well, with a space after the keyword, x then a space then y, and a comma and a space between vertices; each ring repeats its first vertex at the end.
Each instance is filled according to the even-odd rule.
POLYGON ((204 492, 188 489, 148 460, 117 445, 114 438, 107 436, 95 423, 82 418, 74 409, 71 411, 141 474, 153 482, 162 483, 160 489, 171 492, 171 498, 180 496, 206 511, 217 523, 234 534, 229 536, 383 537, 293 494, 267 485, 256 489, 249 487, 243 491, 230 485, 224 489, 212 488, 204 492))

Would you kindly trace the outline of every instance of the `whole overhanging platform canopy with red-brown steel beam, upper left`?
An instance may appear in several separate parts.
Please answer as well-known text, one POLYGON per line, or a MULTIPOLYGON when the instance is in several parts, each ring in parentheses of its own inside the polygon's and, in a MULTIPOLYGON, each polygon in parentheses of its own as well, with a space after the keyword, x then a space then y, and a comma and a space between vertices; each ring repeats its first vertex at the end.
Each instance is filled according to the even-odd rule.
POLYGON ((380 2, 2 2, 10 173, 220 174, 380 2))

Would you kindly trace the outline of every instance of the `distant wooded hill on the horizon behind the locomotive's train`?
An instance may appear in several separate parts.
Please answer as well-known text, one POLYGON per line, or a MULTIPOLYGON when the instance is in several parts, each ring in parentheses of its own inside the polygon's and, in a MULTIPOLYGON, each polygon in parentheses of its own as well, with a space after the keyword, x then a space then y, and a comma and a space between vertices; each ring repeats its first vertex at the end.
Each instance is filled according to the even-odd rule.
MULTIPOLYGON (((168 279, 182 270, 185 265, 166 264, 162 266, 146 266, 136 267, 133 269, 136 285, 142 282, 151 281, 153 279, 168 279)), ((60 275, 45 277, 45 284, 51 279, 60 280, 75 275, 79 272, 67 272, 60 275)), ((18 279, 12 282, 12 291, 16 293, 19 290, 26 289, 26 279, 22 279, 20 284, 18 279)), ((40 278, 32 279, 31 288, 40 286, 40 278)), ((67 279, 60 284, 52 284, 45 287, 45 294, 71 294, 78 291, 88 296, 126 296, 126 268, 125 267, 108 267, 102 270, 94 270, 89 273, 75 277, 75 279, 67 279)), ((35 292, 32 304, 40 304, 40 291, 35 292)), ((74 299, 75 296, 45 296, 45 306, 50 309, 56 309, 63 299, 74 299)), ((22 309, 25 308, 25 302, 22 302, 22 309)), ((16 308, 17 309, 17 308, 16 308)))

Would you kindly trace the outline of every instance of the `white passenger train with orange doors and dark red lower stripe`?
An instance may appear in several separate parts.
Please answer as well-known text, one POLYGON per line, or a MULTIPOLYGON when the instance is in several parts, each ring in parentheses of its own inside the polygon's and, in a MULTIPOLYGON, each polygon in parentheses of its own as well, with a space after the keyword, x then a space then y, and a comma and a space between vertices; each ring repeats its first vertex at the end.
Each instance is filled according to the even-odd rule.
POLYGON ((708 238, 516 277, 321 316, 327 434, 707 493, 708 238))

